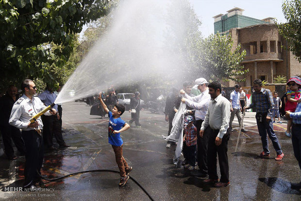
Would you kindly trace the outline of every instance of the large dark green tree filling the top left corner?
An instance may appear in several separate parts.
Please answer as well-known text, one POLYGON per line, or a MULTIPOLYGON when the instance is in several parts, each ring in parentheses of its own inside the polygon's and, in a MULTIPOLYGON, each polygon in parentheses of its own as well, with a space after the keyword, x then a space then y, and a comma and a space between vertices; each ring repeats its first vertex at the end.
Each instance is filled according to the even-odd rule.
POLYGON ((66 64, 75 34, 84 24, 106 15, 110 2, 0 0, 1 83, 50 77, 46 67, 66 64))

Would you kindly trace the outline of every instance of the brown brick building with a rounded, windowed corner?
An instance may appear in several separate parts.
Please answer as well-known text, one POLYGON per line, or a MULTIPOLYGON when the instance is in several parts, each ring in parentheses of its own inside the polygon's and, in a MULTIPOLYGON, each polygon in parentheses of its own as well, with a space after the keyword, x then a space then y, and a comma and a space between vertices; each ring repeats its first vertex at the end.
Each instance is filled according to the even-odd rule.
MULTIPOLYGON (((272 19, 268 17, 264 20, 271 22, 272 19)), ((225 32, 232 35, 234 48, 240 43, 241 49, 247 52, 242 65, 249 69, 249 72, 244 76, 246 81, 240 83, 241 85, 251 86, 255 79, 273 83, 273 78, 278 75, 289 79, 301 74, 301 64, 292 52, 285 48, 286 40, 279 34, 274 23, 231 28, 225 32)), ((233 86, 234 82, 225 85, 233 86)))

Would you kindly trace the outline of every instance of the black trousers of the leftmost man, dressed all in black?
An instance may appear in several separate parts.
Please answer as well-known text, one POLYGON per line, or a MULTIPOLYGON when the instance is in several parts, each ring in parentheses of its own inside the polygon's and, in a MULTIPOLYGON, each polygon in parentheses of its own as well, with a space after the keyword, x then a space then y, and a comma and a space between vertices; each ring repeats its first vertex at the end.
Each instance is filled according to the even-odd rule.
POLYGON ((7 157, 12 157, 14 155, 14 148, 12 145, 12 140, 14 141, 17 150, 24 154, 25 145, 23 139, 21 138, 21 132, 18 128, 11 125, 1 125, 1 134, 4 144, 4 151, 7 157))

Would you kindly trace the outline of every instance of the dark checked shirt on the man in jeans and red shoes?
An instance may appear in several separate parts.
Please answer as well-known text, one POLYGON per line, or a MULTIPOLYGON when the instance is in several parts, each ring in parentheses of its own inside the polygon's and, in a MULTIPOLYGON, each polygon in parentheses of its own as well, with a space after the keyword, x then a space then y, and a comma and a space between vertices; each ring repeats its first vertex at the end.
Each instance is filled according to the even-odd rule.
POLYGON ((249 108, 256 108, 256 113, 263 113, 272 116, 271 109, 274 108, 273 96, 270 90, 261 88, 260 92, 252 93, 252 103, 249 108))

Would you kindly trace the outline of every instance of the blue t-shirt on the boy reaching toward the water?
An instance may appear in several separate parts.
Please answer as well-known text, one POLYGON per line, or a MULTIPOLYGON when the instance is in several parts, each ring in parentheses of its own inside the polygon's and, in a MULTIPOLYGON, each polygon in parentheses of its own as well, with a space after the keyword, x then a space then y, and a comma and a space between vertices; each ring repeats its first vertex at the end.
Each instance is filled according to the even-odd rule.
POLYGON ((119 131, 125 124, 125 121, 120 117, 114 118, 112 112, 108 112, 109 115, 109 143, 113 146, 120 147, 123 144, 123 141, 120 137, 120 133, 113 134, 113 131, 119 131))

